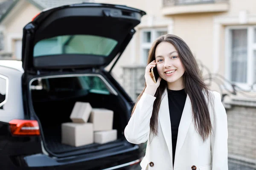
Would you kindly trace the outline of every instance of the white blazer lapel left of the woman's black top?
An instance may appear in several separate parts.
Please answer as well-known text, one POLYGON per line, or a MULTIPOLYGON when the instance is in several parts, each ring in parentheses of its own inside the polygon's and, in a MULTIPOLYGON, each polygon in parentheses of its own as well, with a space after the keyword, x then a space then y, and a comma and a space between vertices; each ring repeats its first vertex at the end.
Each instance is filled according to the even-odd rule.
POLYGON ((171 156, 171 164, 173 164, 172 163, 172 129, 171 129, 170 114, 169 114, 169 102, 168 102, 167 90, 164 91, 162 96, 160 110, 158 112, 158 119, 161 125, 164 139, 166 141, 166 144, 169 150, 169 154, 171 156))

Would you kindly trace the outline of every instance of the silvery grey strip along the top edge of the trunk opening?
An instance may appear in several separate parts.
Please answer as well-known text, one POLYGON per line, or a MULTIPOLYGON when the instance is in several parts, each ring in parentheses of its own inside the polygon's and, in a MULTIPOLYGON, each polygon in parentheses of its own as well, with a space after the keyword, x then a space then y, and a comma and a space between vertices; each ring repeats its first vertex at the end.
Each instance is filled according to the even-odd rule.
POLYGON ((117 92, 111 87, 111 85, 107 82, 106 79, 104 79, 104 77, 100 74, 64 74, 64 75, 54 75, 54 76, 44 76, 44 77, 36 77, 30 80, 29 82, 29 89, 31 90, 30 86, 32 84, 32 82, 36 79, 48 79, 48 78, 58 78, 58 77, 82 77, 82 76, 96 76, 99 77, 100 79, 102 79, 102 81, 105 83, 105 85, 107 85, 108 90, 114 94, 114 95, 118 95, 117 92))

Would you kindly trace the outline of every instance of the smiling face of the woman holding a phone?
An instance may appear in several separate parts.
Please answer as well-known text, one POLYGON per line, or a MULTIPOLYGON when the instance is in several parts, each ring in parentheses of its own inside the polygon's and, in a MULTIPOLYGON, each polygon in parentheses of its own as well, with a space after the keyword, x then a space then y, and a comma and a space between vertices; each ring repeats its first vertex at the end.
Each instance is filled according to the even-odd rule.
POLYGON ((169 42, 161 42, 157 45, 155 57, 157 62, 157 71, 160 77, 166 80, 168 87, 170 87, 170 85, 182 85, 183 87, 183 74, 185 69, 181 63, 176 48, 169 42))

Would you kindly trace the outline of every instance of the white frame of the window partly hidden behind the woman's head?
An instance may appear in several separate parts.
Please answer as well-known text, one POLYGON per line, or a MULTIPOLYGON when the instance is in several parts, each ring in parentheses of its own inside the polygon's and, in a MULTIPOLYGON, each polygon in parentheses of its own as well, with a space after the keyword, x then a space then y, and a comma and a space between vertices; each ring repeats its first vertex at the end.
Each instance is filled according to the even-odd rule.
POLYGON ((143 28, 143 29, 140 30, 140 64, 142 64, 142 65, 147 64, 147 59, 144 58, 143 51, 144 51, 144 49, 150 49, 151 48, 152 43, 157 38, 157 32, 158 31, 166 31, 168 33, 168 28, 167 27, 163 27, 163 28, 143 28), (150 42, 143 42, 145 32, 151 32, 150 42))

